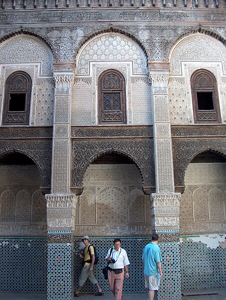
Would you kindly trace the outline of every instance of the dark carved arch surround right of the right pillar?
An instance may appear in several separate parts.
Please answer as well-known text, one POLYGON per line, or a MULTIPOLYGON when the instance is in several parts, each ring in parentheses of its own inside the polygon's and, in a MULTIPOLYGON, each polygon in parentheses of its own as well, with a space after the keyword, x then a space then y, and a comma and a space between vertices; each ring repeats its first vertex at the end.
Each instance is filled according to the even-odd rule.
POLYGON ((184 174, 188 163, 200 152, 216 150, 226 155, 225 139, 186 139, 173 140, 173 160, 175 186, 184 185, 184 174))

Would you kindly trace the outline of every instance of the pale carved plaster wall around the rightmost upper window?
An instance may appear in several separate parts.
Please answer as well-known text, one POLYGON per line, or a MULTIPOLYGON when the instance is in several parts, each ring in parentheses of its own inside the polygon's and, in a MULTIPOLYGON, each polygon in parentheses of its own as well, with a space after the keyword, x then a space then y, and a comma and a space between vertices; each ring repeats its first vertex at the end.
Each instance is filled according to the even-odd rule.
POLYGON ((194 123, 190 76, 200 68, 216 77, 221 116, 225 122, 225 55, 223 44, 204 34, 187 36, 172 49, 168 84, 171 124, 194 123))

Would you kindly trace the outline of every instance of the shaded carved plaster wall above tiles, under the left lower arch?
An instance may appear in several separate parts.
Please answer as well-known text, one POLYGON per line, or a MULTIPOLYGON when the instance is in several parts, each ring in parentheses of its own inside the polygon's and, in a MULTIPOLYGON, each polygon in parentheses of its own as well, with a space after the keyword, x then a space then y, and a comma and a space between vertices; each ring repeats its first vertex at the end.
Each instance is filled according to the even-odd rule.
POLYGON ((0 165, 0 234, 45 235, 46 203, 35 165, 0 165))

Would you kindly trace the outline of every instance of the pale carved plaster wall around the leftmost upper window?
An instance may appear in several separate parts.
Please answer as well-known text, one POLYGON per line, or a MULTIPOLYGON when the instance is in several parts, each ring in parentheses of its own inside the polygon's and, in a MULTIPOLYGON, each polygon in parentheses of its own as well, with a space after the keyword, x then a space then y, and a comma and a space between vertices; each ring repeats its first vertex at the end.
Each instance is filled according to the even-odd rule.
POLYGON ((30 125, 52 125, 54 96, 52 64, 53 57, 50 49, 37 38, 21 34, 2 42, 0 44, 0 115, 7 77, 14 71, 25 71, 32 80, 30 125))

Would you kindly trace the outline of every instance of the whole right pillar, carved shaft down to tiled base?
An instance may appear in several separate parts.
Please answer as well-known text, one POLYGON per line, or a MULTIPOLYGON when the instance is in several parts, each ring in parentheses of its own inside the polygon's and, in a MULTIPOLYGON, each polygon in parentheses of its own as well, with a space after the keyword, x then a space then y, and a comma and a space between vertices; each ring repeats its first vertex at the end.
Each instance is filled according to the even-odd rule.
POLYGON ((155 162, 155 193, 150 196, 152 230, 160 236, 164 252, 163 279, 159 297, 181 298, 179 265, 179 199, 174 192, 171 128, 168 106, 168 64, 150 63, 149 78, 153 99, 153 138, 155 162), (173 262, 173 266, 172 266, 173 262), (164 292, 161 290, 164 289, 164 292))

